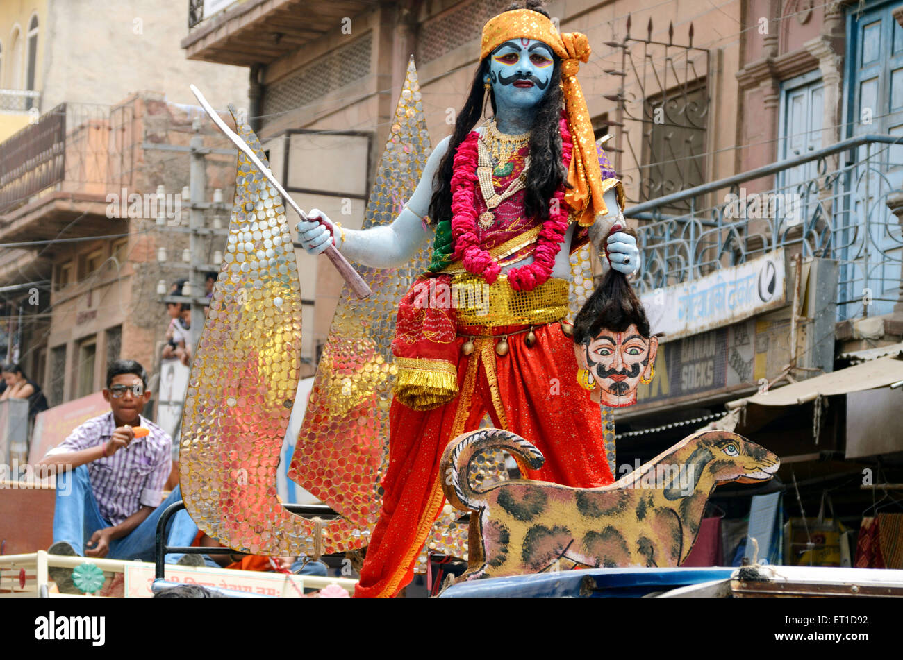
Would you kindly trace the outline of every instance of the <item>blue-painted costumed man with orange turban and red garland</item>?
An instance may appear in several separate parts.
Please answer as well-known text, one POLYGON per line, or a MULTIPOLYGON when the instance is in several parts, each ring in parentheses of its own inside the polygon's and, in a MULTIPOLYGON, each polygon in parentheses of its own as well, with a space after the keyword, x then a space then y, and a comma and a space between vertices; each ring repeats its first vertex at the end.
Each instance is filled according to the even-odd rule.
POLYGON ((297 225, 312 254, 394 268, 433 242, 430 269, 399 304, 389 463, 356 596, 394 596, 444 498, 442 451, 485 415, 545 455, 529 479, 613 481, 600 407, 577 382, 568 313, 570 254, 591 240, 611 267, 638 269, 636 239, 610 230, 623 190, 595 143, 576 74, 590 55, 541 3, 483 28, 480 62, 454 132, 427 160, 390 225, 349 231, 320 211, 297 225), (477 126, 486 97, 494 115, 477 126))

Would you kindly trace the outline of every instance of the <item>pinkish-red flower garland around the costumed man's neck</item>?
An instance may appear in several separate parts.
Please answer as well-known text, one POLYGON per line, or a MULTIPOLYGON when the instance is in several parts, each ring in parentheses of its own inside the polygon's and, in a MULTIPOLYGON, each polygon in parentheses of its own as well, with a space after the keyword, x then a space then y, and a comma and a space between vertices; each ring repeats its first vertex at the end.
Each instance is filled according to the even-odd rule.
MULTIPOLYGON (((564 118, 560 124, 562 133, 562 160, 564 170, 571 164, 573 142, 564 118)), ((461 259, 464 270, 473 275, 482 275, 492 284, 498 279, 501 266, 489 251, 479 247, 477 236, 477 140, 479 133, 470 133, 458 147, 454 155, 452 172, 452 237, 454 254, 461 259)), ((555 265, 555 256, 561 251, 564 234, 567 232, 567 207, 564 204, 564 186, 555 190, 549 204, 549 219, 536 239, 533 263, 508 270, 507 280, 517 291, 531 291, 549 279, 555 265)))

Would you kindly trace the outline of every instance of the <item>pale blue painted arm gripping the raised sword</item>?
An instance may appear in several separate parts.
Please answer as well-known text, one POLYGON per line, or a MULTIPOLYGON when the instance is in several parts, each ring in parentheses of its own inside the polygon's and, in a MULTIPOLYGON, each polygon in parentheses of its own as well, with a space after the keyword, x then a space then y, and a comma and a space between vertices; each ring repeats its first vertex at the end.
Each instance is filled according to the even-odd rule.
MULTIPOLYGON (((351 261, 357 261, 372 268, 397 268, 414 258, 423 244, 433 238, 433 227, 424 226, 423 218, 429 211, 430 199, 436 171, 442 156, 448 151, 450 138, 436 145, 426 161, 424 173, 414 189, 414 195, 391 225, 371 227, 366 230, 335 230, 330 236, 328 230, 319 223, 300 222, 297 225, 299 240, 311 254, 319 254, 330 244, 338 243, 339 251, 351 261), (344 240, 341 235, 344 234, 344 240)), ((311 218, 322 218, 333 225, 330 219, 317 209, 308 214, 311 218)))

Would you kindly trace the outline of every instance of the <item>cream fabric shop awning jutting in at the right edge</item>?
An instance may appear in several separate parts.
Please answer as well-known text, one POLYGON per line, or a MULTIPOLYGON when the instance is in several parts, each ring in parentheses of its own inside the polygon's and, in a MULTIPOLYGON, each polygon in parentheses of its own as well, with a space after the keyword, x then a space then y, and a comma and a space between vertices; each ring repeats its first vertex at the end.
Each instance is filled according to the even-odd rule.
POLYGON ((729 401, 729 410, 754 403, 759 406, 797 406, 819 396, 831 397, 888 387, 903 380, 903 352, 847 367, 808 380, 729 401))

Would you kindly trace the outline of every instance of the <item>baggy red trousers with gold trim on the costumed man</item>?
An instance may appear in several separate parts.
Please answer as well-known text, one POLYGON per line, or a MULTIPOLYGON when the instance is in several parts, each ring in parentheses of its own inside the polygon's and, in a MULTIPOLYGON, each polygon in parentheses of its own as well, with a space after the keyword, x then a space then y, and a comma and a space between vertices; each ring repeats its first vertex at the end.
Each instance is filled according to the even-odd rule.
MULTIPOLYGON (((463 326, 459 334, 505 335, 526 327, 463 326)), ((523 436, 545 456, 542 469, 526 470, 526 478, 580 488, 613 481, 600 407, 577 384, 573 341, 558 322, 534 332, 532 347, 526 333, 508 336, 504 356, 496 354, 495 339, 478 337, 474 352, 458 362, 458 397, 440 408, 417 411, 392 402, 385 494, 355 596, 394 596, 411 582, 445 502, 442 452, 452 438, 478 428, 487 413, 495 426, 523 436)), ((466 336, 457 341, 460 347, 466 336)))

